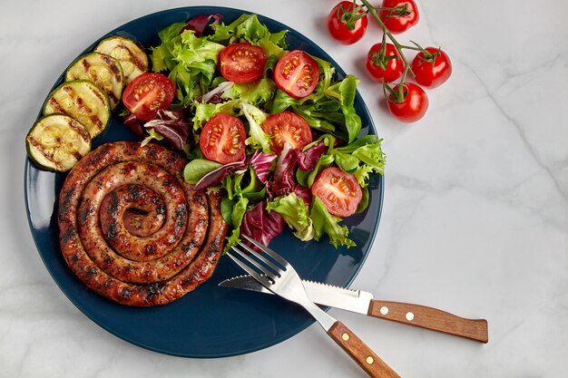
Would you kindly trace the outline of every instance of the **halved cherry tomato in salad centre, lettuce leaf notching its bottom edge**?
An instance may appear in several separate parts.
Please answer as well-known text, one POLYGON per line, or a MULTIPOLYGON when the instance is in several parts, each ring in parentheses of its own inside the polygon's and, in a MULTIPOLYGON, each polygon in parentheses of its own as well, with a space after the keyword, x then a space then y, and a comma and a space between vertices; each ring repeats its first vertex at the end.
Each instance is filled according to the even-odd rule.
POLYGON ((295 149, 303 149, 312 141, 308 122, 291 111, 269 116, 262 124, 262 130, 272 136, 270 150, 274 153, 280 153, 287 141, 295 149))

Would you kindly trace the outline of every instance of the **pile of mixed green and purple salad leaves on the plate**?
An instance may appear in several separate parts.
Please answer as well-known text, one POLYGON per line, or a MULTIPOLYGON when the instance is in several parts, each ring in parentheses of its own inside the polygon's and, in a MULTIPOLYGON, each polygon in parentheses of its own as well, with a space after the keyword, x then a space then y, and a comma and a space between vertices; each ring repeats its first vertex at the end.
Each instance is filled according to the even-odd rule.
MULTIPOLYGON (((279 58, 287 53, 288 31, 271 33, 257 15, 241 15, 230 24, 221 23, 219 15, 205 17, 205 21, 199 27, 176 23, 163 29, 159 33, 162 43, 152 47, 151 61, 154 72, 167 74, 175 83, 171 109, 184 111, 183 115, 165 112, 168 121, 179 124, 187 120, 182 122, 191 128, 186 142, 182 146, 178 143, 190 160, 184 179, 198 189, 222 188, 226 192, 221 212, 232 229, 227 247, 237 243, 241 233, 268 244, 284 225, 300 240, 327 235, 336 247, 355 246, 348 228, 340 224, 342 219, 331 215, 309 188, 319 172, 331 166, 353 174, 363 191, 357 208, 360 212, 367 208, 369 174, 383 173, 382 140, 375 135, 358 137, 361 119, 354 108, 357 78, 338 78, 331 63, 312 56, 320 73, 316 90, 303 98, 291 97, 273 79, 279 58), (220 52, 237 42, 259 45, 266 52, 268 61, 259 80, 227 82, 217 70, 220 52), (280 111, 293 111, 308 121, 314 141, 302 150, 286 144, 278 155, 270 150, 271 137, 262 124, 280 111), (248 133, 244 160, 220 164, 203 157, 200 131, 219 113, 243 121, 248 133)), ((149 138, 167 134, 152 124, 146 129, 149 138)))

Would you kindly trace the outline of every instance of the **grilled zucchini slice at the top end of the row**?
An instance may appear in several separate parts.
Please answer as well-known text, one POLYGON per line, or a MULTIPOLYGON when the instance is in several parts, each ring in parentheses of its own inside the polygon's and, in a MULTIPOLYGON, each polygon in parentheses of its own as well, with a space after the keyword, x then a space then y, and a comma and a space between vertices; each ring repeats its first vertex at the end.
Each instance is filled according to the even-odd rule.
POLYGON ((136 76, 148 72, 148 55, 140 44, 121 35, 103 39, 95 48, 96 53, 106 53, 118 60, 122 66, 125 84, 128 85, 136 76))

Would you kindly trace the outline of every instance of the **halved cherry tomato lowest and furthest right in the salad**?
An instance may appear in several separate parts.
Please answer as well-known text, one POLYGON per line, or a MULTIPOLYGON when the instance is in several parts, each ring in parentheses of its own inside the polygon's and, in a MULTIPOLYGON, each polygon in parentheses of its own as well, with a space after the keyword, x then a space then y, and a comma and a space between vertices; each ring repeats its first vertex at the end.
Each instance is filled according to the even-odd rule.
POLYGON ((311 186, 311 194, 321 199, 329 214, 341 218, 355 214, 363 197, 355 176, 338 167, 328 167, 319 172, 311 186))

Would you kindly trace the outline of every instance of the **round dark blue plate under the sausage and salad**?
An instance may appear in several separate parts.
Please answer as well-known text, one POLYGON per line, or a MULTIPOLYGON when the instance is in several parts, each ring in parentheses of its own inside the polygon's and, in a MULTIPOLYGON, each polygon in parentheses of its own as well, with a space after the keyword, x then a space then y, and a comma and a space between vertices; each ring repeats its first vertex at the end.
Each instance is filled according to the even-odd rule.
MULTIPOLYGON (((158 31, 169 24, 184 22, 195 15, 210 14, 221 14, 229 23, 242 13, 237 9, 212 6, 171 9, 124 24, 101 39, 122 34, 135 38, 144 46, 153 46, 160 43, 158 31)), ((345 75, 327 53, 302 34, 268 17, 259 18, 271 31, 289 30, 290 50, 302 49, 328 60, 335 65, 339 76, 345 75)), ((83 53, 91 51, 97 43, 83 53)), ((54 87, 62 80, 63 75, 54 87)), ((355 106, 363 121, 362 132, 375 133, 373 121, 359 93, 355 106)), ((138 139, 126 130, 118 117, 114 117, 107 131, 93 141, 93 149, 105 142, 121 140, 138 139)), ((38 170, 29 160, 25 161, 25 201, 32 235, 45 267, 64 294, 84 315, 110 333, 162 354, 212 358, 266 348, 298 334, 313 323, 308 313, 299 306, 277 296, 218 287, 223 279, 243 273, 226 257, 221 257, 209 281, 169 305, 136 308, 117 305, 98 296, 73 275, 59 247, 56 208, 64 179, 64 174, 38 170)), ((336 249, 328 244, 327 238, 303 243, 288 230, 275 238, 270 247, 288 258, 304 278, 348 286, 363 265, 377 232, 384 190, 382 177, 373 175, 369 188, 367 211, 346 221, 357 247, 336 249)))

